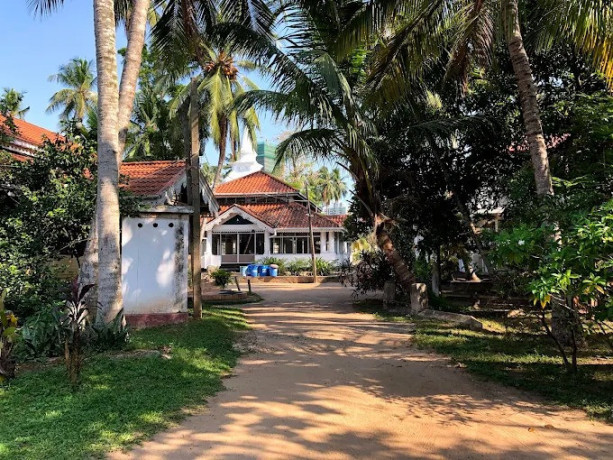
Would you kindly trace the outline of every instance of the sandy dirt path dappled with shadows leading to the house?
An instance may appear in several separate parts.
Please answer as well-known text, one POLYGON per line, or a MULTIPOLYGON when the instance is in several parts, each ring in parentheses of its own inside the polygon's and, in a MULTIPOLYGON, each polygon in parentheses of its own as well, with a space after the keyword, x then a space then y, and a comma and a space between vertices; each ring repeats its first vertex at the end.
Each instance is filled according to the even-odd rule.
POLYGON ((254 332, 203 415, 114 458, 612 458, 613 426, 479 382, 354 313, 337 285, 259 288, 254 332))

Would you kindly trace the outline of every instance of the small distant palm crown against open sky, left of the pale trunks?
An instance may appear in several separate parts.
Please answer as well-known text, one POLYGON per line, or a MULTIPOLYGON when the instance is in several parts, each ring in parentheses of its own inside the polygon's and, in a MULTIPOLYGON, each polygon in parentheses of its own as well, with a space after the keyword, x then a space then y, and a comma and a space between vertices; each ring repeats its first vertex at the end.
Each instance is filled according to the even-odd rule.
POLYGON ((77 123, 83 123, 88 110, 93 109, 97 103, 93 66, 92 61, 74 58, 68 64, 60 66, 58 73, 49 77, 49 81, 60 83, 65 88, 51 96, 48 113, 61 109, 61 117, 64 120, 73 119, 77 123))

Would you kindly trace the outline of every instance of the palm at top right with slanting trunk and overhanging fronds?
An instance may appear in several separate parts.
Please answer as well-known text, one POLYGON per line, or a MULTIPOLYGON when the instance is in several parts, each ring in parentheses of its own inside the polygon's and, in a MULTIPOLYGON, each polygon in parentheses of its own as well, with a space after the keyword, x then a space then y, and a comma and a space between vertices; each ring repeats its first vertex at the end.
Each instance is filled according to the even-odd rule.
MULTIPOLYGON (((310 3, 309 0, 303 0, 310 3)), ((557 40, 574 43, 613 79, 611 22, 613 6, 592 0, 530 4, 530 20, 541 45, 557 40)), ((388 96, 398 95, 403 76, 414 72, 424 56, 440 57, 450 48, 447 77, 466 86, 473 63, 488 65, 497 37, 505 40, 518 83, 526 141, 536 191, 553 194, 547 147, 534 83, 521 31, 517 0, 371 0, 363 2, 354 20, 342 31, 337 50, 347 52, 367 40, 380 40, 380 53, 371 75, 373 86, 388 96)))

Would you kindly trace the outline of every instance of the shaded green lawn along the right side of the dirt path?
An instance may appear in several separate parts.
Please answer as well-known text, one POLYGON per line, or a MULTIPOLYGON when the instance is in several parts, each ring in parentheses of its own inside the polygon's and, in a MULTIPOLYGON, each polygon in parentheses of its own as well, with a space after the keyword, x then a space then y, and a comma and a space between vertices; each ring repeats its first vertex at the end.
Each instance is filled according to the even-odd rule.
POLYGON ((569 375, 553 343, 530 316, 480 319, 485 330, 475 332, 381 313, 372 303, 356 308, 375 313, 379 320, 414 323, 415 345, 449 356, 479 378, 532 391, 551 403, 613 422, 613 352, 602 337, 589 338, 589 347, 579 355, 579 373, 569 375))

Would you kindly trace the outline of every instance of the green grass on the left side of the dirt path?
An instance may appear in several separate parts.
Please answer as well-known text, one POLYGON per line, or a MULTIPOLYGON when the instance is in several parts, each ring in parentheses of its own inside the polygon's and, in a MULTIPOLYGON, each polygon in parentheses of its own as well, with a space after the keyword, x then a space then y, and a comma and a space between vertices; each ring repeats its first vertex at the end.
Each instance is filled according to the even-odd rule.
POLYGON ((239 310, 209 309, 201 321, 134 332, 131 348, 155 354, 86 361, 73 392, 64 368, 24 372, 0 387, 0 459, 101 457, 170 427, 222 389, 236 364, 239 310))

